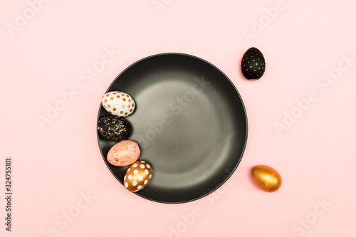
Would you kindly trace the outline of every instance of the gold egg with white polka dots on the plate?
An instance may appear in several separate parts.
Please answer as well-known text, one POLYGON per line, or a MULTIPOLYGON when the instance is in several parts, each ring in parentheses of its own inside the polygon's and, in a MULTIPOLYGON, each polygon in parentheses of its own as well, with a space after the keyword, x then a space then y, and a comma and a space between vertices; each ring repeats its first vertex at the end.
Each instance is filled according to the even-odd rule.
POLYGON ((130 165, 124 177, 124 186, 128 191, 140 191, 152 179, 152 167, 144 161, 130 165))

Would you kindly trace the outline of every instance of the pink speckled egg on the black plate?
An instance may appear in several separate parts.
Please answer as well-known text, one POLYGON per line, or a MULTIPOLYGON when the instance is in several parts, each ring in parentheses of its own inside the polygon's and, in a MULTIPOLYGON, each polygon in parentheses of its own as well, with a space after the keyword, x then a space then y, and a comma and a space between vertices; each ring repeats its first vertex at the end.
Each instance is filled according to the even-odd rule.
POLYGON ((125 167, 140 157, 140 147, 134 141, 123 140, 113 145, 108 152, 108 162, 117 167, 125 167))

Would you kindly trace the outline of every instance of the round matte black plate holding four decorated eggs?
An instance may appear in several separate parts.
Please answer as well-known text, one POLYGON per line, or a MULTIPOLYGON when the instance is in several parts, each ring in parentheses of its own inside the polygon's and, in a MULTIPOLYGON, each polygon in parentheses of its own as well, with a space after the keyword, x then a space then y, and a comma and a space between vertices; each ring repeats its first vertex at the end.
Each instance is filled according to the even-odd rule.
MULTIPOLYGON (((244 103, 229 78, 211 63, 182 53, 163 53, 126 68, 108 88, 134 98, 126 117, 129 139, 152 164, 150 183, 135 194, 176 204, 210 194, 239 165, 247 140, 244 103)), ((100 105, 98 120, 110 114, 100 105)), ((127 167, 109 164, 115 142, 98 134, 100 151, 122 184, 127 167)))

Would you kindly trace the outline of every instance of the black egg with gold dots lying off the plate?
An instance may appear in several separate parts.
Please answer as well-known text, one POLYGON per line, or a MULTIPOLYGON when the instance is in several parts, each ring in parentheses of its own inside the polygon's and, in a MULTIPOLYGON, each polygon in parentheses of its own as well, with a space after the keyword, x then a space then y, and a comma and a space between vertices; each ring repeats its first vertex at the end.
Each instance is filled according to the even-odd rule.
POLYGON ((248 48, 241 60, 241 71, 247 79, 260 79, 266 70, 266 61, 258 48, 248 48))

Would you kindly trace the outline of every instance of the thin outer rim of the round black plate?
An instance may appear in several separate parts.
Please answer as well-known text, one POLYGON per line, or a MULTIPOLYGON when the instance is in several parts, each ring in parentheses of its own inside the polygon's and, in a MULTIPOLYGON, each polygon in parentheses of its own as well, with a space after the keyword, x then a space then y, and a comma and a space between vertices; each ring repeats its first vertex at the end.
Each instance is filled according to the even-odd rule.
MULTIPOLYGON (((121 71, 121 73, 119 73, 119 75, 116 76, 116 78, 114 80, 112 80, 112 83, 110 83, 110 85, 108 86, 108 89, 105 91, 105 93, 108 93, 109 92, 109 88, 112 87, 112 85, 116 82, 116 80, 118 80, 120 78, 120 76, 125 73, 126 70, 128 70, 129 68, 131 68, 132 66, 136 65, 137 63, 140 63, 142 62, 143 60, 147 60, 147 59, 150 59, 150 58, 155 58, 155 57, 159 57, 159 56, 169 56, 169 55, 172 55, 172 56, 187 56, 187 57, 191 57, 191 58, 195 58, 197 60, 201 60, 202 62, 204 63, 207 63, 209 64, 211 67, 215 68, 216 70, 219 71, 219 73, 221 73, 222 75, 224 75, 224 77, 229 81, 229 83, 233 86, 233 88, 235 89, 237 95, 239 96, 240 98, 240 101, 241 101, 241 105, 244 109, 244 114, 245 114, 245 119, 246 119, 246 135, 245 135, 245 141, 244 141, 244 147, 241 151, 241 155, 239 157, 239 160, 238 162, 236 163, 234 169, 231 170, 231 174, 229 174, 226 179, 224 181, 222 181, 219 185, 217 185, 214 189, 211 189, 210 191, 207 191, 206 193, 204 194, 201 194, 201 196, 197 197, 197 198, 194 198, 194 199, 189 199, 189 200, 186 200, 186 201, 159 201, 159 200, 155 200, 155 199, 150 199, 149 197, 147 196, 142 196, 140 193, 138 192, 133 192, 133 194, 136 194, 137 196, 140 196, 144 199, 147 199, 147 200, 150 200, 150 201, 155 201, 156 203, 161 203, 161 204, 184 204, 184 203, 188 203, 188 202, 191 202, 191 201, 197 201, 198 199, 201 199, 203 198, 204 196, 208 196, 209 194, 212 194, 214 191, 216 191, 217 189, 219 189, 222 185, 224 185, 226 183, 226 181, 228 181, 231 176, 234 174, 234 172, 236 171, 237 167, 239 167, 239 164, 241 162, 241 159, 242 157, 244 157, 244 152, 246 150, 246 145, 247 145, 247 139, 248 139, 248 117, 247 117, 247 111, 246 111, 246 107, 245 107, 245 104, 244 104, 244 100, 242 100, 241 98, 241 95, 239 93, 239 90, 236 89, 234 83, 232 83, 232 81, 230 80, 230 78, 223 72, 221 71, 219 68, 217 68, 214 64, 210 63, 209 61, 207 60, 204 60, 203 58, 199 58, 197 56, 193 56, 191 54, 187 54, 187 53, 157 53, 157 54, 153 54, 153 55, 150 55, 150 56, 146 56, 145 58, 141 58, 140 60, 137 60, 135 61, 134 63, 131 63, 130 65, 128 65, 124 70, 121 71)), ((101 110, 101 102, 100 102, 100 106, 99 106, 99 110, 98 110, 98 116, 97 116, 97 123, 99 121, 99 117, 100 117, 100 110, 101 110)), ((115 179, 117 179, 117 181, 120 182, 120 184, 122 184, 122 186, 124 185, 122 183, 122 181, 117 178, 117 176, 114 174, 114 172, 112 172, 112 170, 110 169, 109 165, 108 165, 108 162, 106 162, 106 157, 104 156, 103 154, 103 151, 102 149, 100 148, 100 144, 99 144, 99 132, 98 132, 98 128, 96 128, 96 133, 97 133, 97 141, 98 141, 98 148, 100 150, 100 154, 101 156, 103 157, 104 159, 104 163, 106 164, 106 166, 108 167, 108 169, 110 170, 111 174, 115 177, 115 179)), ((129 167, 129 166, 127 166, 129 167)))

